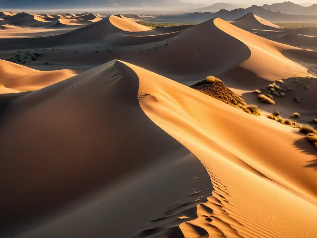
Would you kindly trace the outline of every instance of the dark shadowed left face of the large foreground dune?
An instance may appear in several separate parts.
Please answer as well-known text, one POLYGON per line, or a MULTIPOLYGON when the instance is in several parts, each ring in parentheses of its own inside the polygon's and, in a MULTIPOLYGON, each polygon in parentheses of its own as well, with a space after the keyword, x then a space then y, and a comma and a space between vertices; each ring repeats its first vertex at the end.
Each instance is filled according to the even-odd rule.
POLYGON ((138 88, 113 61, 6 101, 1 237, 127 237, 207 201, 206 170, 146 116, 138 88))

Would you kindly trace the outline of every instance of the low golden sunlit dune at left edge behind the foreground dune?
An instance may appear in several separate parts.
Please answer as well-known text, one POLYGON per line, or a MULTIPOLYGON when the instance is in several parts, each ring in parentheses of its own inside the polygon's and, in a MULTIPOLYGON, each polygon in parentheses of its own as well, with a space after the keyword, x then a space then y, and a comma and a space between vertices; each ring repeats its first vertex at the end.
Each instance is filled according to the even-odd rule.
POLYGON ((33 91, 76 75, 73 70, 39 71, 0 60, 0 93, 33 91))

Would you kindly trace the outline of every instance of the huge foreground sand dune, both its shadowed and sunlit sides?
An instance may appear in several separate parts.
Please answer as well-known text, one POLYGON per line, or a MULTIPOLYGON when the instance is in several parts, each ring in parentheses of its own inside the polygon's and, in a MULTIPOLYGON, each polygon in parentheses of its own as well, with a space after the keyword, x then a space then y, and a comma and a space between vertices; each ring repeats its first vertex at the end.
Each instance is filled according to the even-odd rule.
POLYGON ((290 127, 122 61, 2 100, 2 235, 317 232, 315 152, 290 127))

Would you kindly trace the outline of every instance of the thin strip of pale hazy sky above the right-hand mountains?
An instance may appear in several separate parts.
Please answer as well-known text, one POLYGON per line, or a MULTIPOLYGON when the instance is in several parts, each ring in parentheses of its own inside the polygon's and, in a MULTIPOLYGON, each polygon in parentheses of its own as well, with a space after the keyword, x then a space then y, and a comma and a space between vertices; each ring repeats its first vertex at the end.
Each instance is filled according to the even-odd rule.
MULTIPOLYGON (((187 2, 187 3, 207 3, 207 4, 212 4, 212 3, 239 3, 239 4, 248 4, 248 5, 263 5, 264 3, 266 4, 272 4, 272 3, 282 3, 286 2, 286 0, 180 0, 181 2, 187 2)), ((317 0, 293 0, 291 1, 293 3, 317 3, 317 0)))

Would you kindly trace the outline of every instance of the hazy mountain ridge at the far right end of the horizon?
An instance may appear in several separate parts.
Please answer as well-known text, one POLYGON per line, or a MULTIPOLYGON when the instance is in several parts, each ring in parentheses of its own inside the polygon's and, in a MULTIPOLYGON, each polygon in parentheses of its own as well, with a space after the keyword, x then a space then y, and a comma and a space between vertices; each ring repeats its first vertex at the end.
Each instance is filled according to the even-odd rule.
POLYGON ((264 4, 262 7, 268 10, 281 11, 287 14, 317 15, 317 4, 304 7, 288 1, 284 3, 274 3, 271 5, 264 4))

